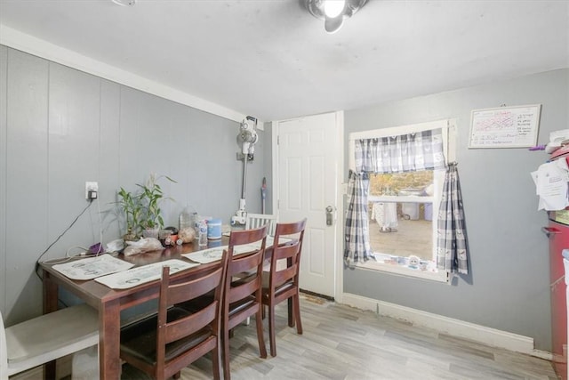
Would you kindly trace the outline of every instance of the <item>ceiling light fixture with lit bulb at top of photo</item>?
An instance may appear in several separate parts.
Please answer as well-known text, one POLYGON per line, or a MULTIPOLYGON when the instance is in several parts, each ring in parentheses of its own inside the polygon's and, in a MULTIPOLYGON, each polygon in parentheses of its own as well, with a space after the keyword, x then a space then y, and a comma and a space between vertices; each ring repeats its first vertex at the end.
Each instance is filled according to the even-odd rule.
POLYGON ((349 19, 365 5, 367 0, 301 0, 310 14, 323 19, 328 33, 340 30, 344 20, 349 19))

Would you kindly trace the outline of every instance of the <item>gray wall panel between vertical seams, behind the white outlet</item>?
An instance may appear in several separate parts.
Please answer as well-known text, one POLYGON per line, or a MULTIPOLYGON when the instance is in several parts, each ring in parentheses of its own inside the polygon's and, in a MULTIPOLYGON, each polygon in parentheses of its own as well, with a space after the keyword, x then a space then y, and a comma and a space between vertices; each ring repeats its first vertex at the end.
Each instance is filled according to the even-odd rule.
MULTIPOLYGON (((100 150, 100 79, 50 63, 49 84, 49 225, 50 241, 57 239, 89 206, 85 182, 98 181, 100 150)), ((61 237, 46 257, 73 255, 99 241, 97 201, 61 237), (74 248, 77 247, 77 248, 74 248)))

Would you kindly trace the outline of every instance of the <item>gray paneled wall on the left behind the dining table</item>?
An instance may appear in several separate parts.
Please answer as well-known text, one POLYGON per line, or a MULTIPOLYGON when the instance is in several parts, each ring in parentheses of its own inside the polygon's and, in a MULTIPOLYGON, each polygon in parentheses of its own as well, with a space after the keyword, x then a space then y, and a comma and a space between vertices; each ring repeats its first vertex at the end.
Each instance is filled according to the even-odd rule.
MULTIPOLYGON (((86 181, 99 182, 99 200, 43 259, 99 242, 100 227, 104 243, 120 237, 116 190, 136 190, 151 172, 178 182, 160 182, 175 200, 163 204, 166 225, 178 225, 187 203, 228 223, 241 197, 238 126, 0 45, 0 310, 6 325, 41 313, 36 259, 88 205, 86 181)), ((247 173, 250 212, 260 212, 265 144, 260 132, 247 173)))

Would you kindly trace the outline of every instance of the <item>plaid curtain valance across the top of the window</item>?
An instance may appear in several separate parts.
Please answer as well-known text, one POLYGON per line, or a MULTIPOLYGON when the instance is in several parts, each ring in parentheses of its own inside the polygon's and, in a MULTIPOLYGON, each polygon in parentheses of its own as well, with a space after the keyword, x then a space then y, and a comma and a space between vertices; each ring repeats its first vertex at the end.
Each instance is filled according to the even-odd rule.
POLYGON ((443 131, 355 141, 357 173, 403 173, 445 167, 443 131))

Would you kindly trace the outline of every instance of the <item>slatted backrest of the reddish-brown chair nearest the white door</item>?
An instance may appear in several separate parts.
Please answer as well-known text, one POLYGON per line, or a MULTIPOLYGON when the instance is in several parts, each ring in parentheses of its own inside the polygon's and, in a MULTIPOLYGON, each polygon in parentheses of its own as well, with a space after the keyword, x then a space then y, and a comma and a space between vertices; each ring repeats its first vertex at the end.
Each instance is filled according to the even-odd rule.
POLYGON ((300 222, 276 224, 273 255, 271 256, 270 261, 268 287, 275 289, 286 282, 293 282, 293 284, 298 287, 299 271, 301 268, 302 241, 304 239, 305 228, 306 218, 300 222), (287 240, 281 242, 279 241, 281 238, 285 238, 287 240), (286 265, 281 267, 278 265, 279 261, 285 261, 286 265))

